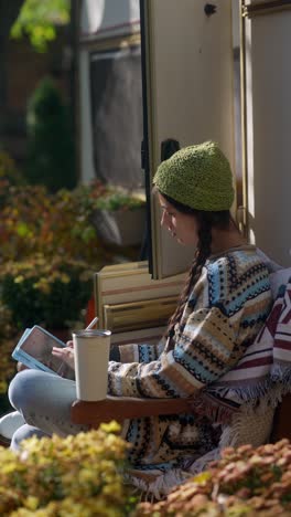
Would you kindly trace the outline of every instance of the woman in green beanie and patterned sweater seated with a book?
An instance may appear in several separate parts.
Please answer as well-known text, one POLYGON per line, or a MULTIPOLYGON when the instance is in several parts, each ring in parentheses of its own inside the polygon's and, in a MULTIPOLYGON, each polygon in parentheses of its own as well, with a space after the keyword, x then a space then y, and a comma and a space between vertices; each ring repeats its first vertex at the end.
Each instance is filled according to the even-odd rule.
MULTIPOLYGON (((132 443, 130 460, 138 468, 168 469, 217 446, 222 399, 212 397, 213 408, 204 401, 254 341, 271 308, 267 267, 229 213, 231 181, 229 163, 212 141, 175 152, 154 177, 161 224, 181 244, 194 244, 196 253, 166 336, 157 346, 112 348, 109 393, 195 395, 197 411, 127 421, 122 435, 132 443)), ((55 350, 67 362, 73 354, 69 347, 55 350)), ((14 433, 12 449, 31 434, 66 435, 86 429, 69 420, 74 381, 26 370, 13 379, 9 394, 26 422, 14 433)), ((225 410, 226 402, 223 405, 225 410)))

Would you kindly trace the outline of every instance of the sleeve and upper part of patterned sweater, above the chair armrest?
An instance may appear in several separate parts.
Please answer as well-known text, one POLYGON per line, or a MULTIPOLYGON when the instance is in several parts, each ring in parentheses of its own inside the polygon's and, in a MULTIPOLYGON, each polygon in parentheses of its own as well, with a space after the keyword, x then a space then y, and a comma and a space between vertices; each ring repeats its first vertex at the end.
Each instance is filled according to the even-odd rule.
POLYGON ((271 308, 269 273, 255 246, 212 257, 203 268, 174 347, 122 345, 109 363, 115 395, 191 397, 226 373, 259 333, 271 308))

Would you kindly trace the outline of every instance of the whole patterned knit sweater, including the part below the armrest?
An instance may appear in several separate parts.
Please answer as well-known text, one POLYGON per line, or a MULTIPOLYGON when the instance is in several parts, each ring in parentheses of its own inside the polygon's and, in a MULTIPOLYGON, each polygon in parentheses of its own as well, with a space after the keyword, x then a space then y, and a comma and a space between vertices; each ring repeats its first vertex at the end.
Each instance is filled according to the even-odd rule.
MULTIPOLYGON (((271 305, 269 273, 255 246, 212 256, 175 326, 172 346, 164 340, 120 346, 120 361, 109 362, 109 393, 186 398, 207 390, 238 362, 271 305)), ((133 444, 132 461, 165 468, 186 451, 203 454, 215 446, 209 426, 209 421, 198 424, 195 415, 170 415, 127 422, 123 435, 133 444)))

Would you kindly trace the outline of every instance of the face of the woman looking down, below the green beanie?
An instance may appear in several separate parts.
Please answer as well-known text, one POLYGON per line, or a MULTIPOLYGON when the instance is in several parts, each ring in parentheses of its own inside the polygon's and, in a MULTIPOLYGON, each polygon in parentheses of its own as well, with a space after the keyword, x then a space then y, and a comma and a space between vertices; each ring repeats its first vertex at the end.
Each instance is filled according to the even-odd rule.
POLYGON ((181 244, 197 246, 198 225, 195 215, 179 212, 162 194, 158 196, 162 209, 161 225, 181 244))

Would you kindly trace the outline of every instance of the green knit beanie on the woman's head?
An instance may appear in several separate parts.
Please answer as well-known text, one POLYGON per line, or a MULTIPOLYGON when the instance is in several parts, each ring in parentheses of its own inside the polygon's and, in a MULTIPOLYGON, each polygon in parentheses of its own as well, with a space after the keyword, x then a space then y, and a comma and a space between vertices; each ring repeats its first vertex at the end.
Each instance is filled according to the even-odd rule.
POLYGON ((214 141, 184 147, 162 161, 153 183, 161 194, 196 210, 229 210, 234 201, 230 166, 214 141))

